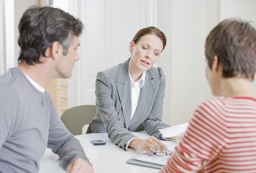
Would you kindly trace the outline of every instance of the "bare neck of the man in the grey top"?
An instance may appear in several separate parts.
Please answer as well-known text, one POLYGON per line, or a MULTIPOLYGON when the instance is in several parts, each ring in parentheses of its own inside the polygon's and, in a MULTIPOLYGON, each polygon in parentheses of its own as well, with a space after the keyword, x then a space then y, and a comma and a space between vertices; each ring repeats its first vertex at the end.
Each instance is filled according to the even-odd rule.
POLYGON ((33 65, 20 63, 18 68, 41 87, 45 88, 54 78, 52 72, 46 66, 47 64, 45 63, 34 63, 33 65))

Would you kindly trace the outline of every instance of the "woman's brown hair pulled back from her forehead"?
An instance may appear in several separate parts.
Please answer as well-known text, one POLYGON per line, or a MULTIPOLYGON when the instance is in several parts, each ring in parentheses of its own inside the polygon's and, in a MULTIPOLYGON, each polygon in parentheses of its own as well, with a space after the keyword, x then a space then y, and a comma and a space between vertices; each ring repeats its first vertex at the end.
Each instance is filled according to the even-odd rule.
MULTIPOLYGON (((139 39, 147 34, 151 34, 151 35, 156 35, 158 36, 159 39, 162 40, 163 43, 163 50, 165 49, 165 45, 166 45, 166 37, 165 34, 163 34, 162 31, 160 31, 158 28, 156 27, 146 27, 146 28, 142 28, 141 30, 139 30, 135 36, 133 37, 132 41, 136 44, 138 43, 139 39)), ((162 50, 162 51, 163 51, 162 50)))

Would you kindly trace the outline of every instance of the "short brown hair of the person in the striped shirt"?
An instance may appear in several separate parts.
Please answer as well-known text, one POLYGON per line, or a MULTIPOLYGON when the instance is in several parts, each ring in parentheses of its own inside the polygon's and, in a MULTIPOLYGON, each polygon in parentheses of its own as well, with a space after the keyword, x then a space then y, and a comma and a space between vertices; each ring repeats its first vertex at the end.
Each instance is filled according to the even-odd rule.
POLYGON ((222 77, 253 79, 256 72, 256 30, 249 22, 227 19, 207 36, 205 56, 212 69, 213 56, 218 57, 222 77))

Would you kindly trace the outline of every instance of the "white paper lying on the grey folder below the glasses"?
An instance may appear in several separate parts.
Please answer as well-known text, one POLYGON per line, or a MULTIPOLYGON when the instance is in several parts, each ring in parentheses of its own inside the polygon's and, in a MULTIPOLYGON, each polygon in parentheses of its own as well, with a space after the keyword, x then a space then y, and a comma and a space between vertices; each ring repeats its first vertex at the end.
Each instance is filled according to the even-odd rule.
POLYGON ((133 159, 158 165, 165 165, 170 157, 171 156, 157 156, 155 154, 141 154, 133 157, 133 159))

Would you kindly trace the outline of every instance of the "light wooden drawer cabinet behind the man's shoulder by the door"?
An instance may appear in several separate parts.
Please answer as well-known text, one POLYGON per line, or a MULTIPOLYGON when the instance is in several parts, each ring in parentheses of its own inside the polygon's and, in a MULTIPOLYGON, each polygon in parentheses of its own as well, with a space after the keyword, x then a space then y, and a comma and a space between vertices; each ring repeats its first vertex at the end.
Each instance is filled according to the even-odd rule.
POLYGON ((52 97, 54 106, 61 117, 62 113, 67 110, 68 107, 68 83, 67 79, 53 79, 52 82, 46 87, 46 91, 52 97))

